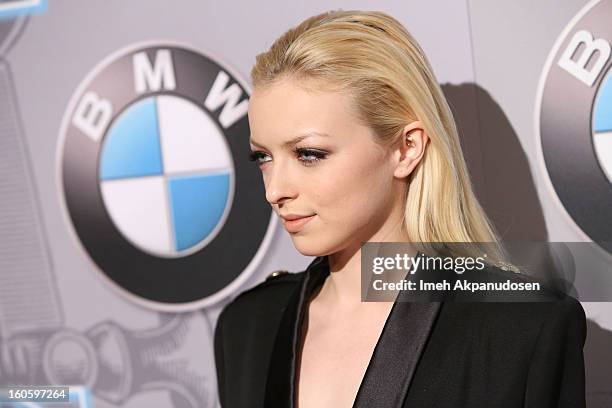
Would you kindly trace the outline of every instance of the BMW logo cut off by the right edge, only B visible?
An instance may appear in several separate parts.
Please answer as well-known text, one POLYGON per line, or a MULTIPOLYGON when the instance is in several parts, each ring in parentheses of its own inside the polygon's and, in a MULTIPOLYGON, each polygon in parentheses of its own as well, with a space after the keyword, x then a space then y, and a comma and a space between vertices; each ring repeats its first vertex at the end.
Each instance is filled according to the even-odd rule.
POLYGON ((563 30, 540 79, 536 135, 551 184, 586 236, 612 254, 612 0, 563 30))

